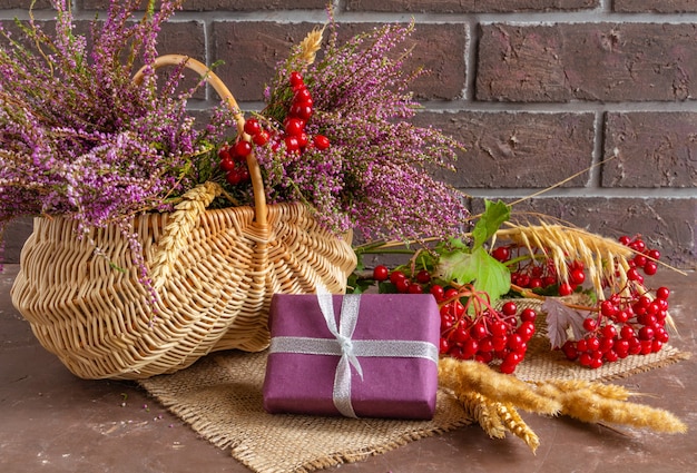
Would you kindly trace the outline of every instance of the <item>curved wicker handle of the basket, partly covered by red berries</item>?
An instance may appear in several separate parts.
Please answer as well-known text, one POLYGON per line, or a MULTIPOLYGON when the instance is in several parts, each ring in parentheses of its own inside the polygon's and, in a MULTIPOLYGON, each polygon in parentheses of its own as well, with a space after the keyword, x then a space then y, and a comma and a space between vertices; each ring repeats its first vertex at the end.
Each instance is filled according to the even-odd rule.
MULTIPOLYGON (((252 137, 244 131, 245 117, 242 114, 237 100, 233 97, 227 86, 216 76, 208 66, 203 62, 189 58, 184 55, 165 55, 155 59, 151 67, 157 70, 164 66, 184 66, 187 69, 192 69, 199 76, 204 77, 206 81, 215 89, 220 98, 225 101, 227 107, 233 111, 233 116, 237 121, 237 132, 245 141, 252 141, 252 137)), ((134 83, 140 86, 145 79, 145 71, 148 67, 144 66, 134 76, 134 83)), ((254 156, 254 150, 247 156, 247 167, 249 168, 249 178, 252 180, 252 191, 254 193, 254 213, 255 221, 257 226, 265 227, 268 218, 268 209, 266 207, 266 194, 264 190, 264 179, 262 178, 262 169, 259 162, 254 156)))

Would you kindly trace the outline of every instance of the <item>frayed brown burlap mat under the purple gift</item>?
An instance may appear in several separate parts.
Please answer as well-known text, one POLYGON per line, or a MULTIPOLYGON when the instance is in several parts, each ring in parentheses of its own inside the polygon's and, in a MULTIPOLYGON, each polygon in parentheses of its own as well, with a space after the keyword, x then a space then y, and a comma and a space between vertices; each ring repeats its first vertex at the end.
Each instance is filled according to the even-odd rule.
MULTIPOLYGON (((542 336, 516 369, 522 380, 606 381, 664 366, 688 354, 671 346, 647 356, 587 369, 550 351, 542 336)), ((462 408, 439 392, 432 421, 271 415, 262 406, 266 353, 219 352, 187 369, 140 384, 202 436, 257 473, 311 472, 363 460, 408 442, 468 425, 462 408)))

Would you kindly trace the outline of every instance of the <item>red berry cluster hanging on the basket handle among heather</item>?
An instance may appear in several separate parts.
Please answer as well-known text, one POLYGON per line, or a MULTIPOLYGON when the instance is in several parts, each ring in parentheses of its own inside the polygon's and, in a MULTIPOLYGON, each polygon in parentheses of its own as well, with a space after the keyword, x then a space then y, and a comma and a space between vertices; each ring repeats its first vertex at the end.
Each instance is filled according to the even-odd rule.
POLYGON ((256 118, 245 121, 244 132, 247 136, 239 136, 233 145, 223 146, 218 150, 220 169, 226 173, 225 179, 228 184, 237 185, 249 180, 249 169, 247 168, 247 156, 252 154, 253 145, 265 146, 269 141, 278 147, 285 144, 286 152, 296 155, 308 147, 325 150, 330 147, 330 139, 323 135, 315 135, 310 140, 305 126, 313 115, 312 95, 303 77, 298 72, 292 72, 289 85, 293 91, 287 116, 283 122, 282 131, 265 129, 256 118))

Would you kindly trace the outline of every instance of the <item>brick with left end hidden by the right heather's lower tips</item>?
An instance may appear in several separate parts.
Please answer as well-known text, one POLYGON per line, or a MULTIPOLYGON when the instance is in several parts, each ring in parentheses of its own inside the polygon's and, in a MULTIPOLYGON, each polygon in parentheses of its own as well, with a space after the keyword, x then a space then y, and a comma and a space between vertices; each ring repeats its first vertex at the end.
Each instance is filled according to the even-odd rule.
MULTIPOLYGON (((591 165, 592 114, 421 112, 420 126, 433 125, 464 144, 458 173, 435 176, 461 188, 546 188, 591 165)), ((583 187, 588 175, 563 187, 583 187)))

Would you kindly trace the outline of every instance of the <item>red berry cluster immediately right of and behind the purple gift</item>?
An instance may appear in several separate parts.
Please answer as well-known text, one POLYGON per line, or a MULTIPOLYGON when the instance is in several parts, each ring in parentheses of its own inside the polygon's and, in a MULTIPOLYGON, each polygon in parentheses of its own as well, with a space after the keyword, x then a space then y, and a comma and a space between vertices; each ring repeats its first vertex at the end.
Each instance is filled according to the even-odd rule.
POLYGON ((499 369, 508 374, 524 358, 528 342, 536 332, 533 309, 519 311, 511 300, 500 309, 494 308, 487 294, 471 285, 443 287, 425 269, 410 278, 402 270, 390 272, 379 265, 373 269, 373 278, 389 282, 397 293, 430 293, 435 297, 441 317, 441 354, 487 364, 500 362, 499 369))

